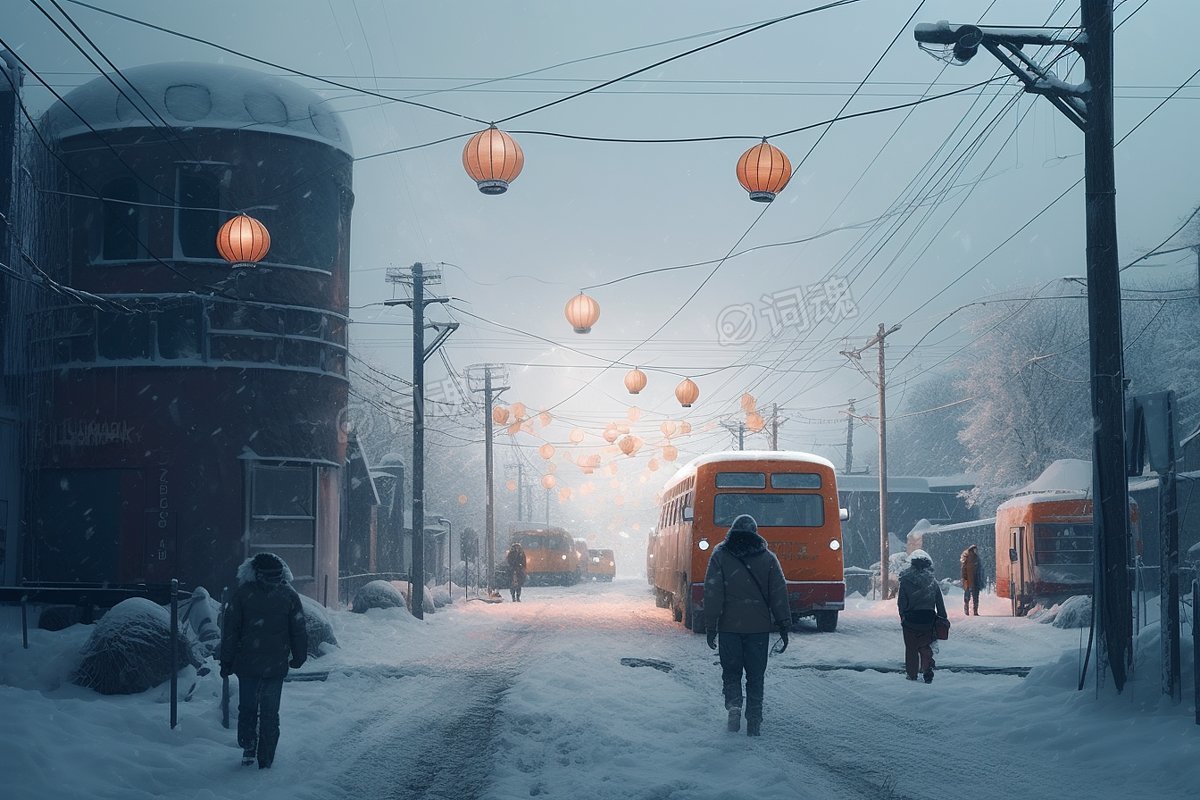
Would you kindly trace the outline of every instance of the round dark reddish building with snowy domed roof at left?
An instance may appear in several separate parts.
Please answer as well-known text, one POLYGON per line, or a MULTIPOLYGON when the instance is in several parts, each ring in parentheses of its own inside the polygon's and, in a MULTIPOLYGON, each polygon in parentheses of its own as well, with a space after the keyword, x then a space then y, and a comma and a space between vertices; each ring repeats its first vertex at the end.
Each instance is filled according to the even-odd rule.
POLYGON ((347 463, 346 128, 316 94, 248 70, 124 78, 133 90, 97 78, 43 119, 65 210, 43 267, 96 299, 32 319, 20 577, 216 593, 272 551, 319 599, 336 589, 347 463), (271 234, 253 269, 215 248, 236 211, 271 234))

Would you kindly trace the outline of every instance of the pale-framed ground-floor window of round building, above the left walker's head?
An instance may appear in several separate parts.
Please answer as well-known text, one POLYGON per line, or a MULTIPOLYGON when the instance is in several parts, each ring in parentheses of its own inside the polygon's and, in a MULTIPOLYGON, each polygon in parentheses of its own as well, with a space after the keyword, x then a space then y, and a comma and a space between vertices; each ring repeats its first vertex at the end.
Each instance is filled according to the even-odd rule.
POLYGON ((250 463, 248 555, 271 552, 296 581, 317 567, 317 473, 308 464, 250 463))

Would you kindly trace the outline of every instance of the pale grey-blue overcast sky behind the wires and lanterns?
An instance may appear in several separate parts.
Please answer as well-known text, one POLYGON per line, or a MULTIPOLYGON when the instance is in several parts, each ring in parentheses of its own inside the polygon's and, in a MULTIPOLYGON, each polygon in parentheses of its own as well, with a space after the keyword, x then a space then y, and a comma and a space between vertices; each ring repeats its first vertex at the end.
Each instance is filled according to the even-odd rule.
MULTIPOLYGON (((164 60, 254 66, 60 1, 122 67, 164 60)), ((738 26, 817 5, 712 0, 96 2, 299 71, 397 97, 420 96, 420 102, 481 120, 518 114, 715 41, 738 26), (680 41, 664 43, 670 40, 680 41), (576 62, 556 66, 568 61, 576 62), (494 80, 539 70, 518 79, 494 80), (492 82, 456 89, 484 79, 492 82)), ((1078 24, 1075 0, 862 0, 751 32, 503 127, 612 138, 757 137, 838 115, 868 74, 847 113, 911 102, 996 74, 997 65, 986 53, 965 66, 948 67, 922 53, 908 22, 914 11, 913 22, 982 18, 994 25, 1078 24), (990 5, 996 7, 988 11, 990 5), (881 54, 882 61, 874 66, 881 54)), ((1130 14, 1116 43, 1117 138, 1200 68, 1193 41, 1200 29, 1200 4, 1121 2, 1118 22, 1130 14)), ((26 0, 5 2, 0 30, 60 91, 95 74, 26 0)), ((1074 58, 1060 61, 1060 73, 1074 62, 1074 58)), ((1076 65, 1069 77, 1081 79, 1082 66, 1076 65)), ((343 112, 354 155, 360 158, 480 127, 450 114, 295 80, 343 112)), ((408 312, 368 303, 390 296, 383 267, 445 261, 454 266, 445 267, 442 290, 460 299, 455 306, 462 309, 452 312, 462 327, 446 345, 450 363, 456 369, 485 361, 532 365, 511 368, 509 401, 533 409, 554 408, 564 421, 602 427, 607 420, 625 416, 630 398, 622 386, 626 367, 602 374, 596 367, 622 359, 670 369, 670 374, 650 371, 649 386, 636 398, 655 427, 662 419, 683 417, 672 390, 688 374, 701 389, 700 402, 688 415, 697 428, 736 416, 738 397, 750 391, 760 408, 775 402, 786 409, 784 447, 832 455, 833 449, 824 445, 840 439, 841 423, 838 409, 827 407, 874 393, 860 374, 845 366, 839 350, 865 342, 880 323, 902 320, 902 330, 889 339, 889 353, 898 357, 961 303, 1085 272, 1082 186, 979 263, 1082 176, 1081 133, 1044 98, 1022 95, 1003 110, 1018 94, 1016 79, 1009 78, 912 110, 773 139, 797 172, 766 211, 746 198, 734 176, 738 156, 754 144, 750 139, 614 144, 515 133, 526 167, 500 197, 480 194, 463 173, 463 139, 361 161, 354 174, 352 302, 362 307, 353 312, 352 341, 377 366, 407 374, 410 329, 371 323, 403 324, 408 312), (970 132, 968 143, 978 140, 978 149, 964 156, 959 148, 947 158, 940 148, 948 136, 954 134, 949 142, 955 143, 964 132, 970 132), (925 201, 911 205, 913 196, 906 187, 916 182, 919 188, 926 179, 934 182, 918 193, 925 201), (942 191, 930 197, 934 186, 942 191), (898 216, 894 211, 902 200, 898 216), (884 223, 870 227, 889 211, 884 223), (888 237, 892 225, 901 222, 888 237), (830 230, 808 243, 727 260, 686 305, 715 264, 589 290, 602 311, 588 336, 574 335, 563 318, 564 303, 583 287, 830 230), (786 305, 797 291, 811 299, 809 288, 830 276, 851 281, 857 315, 811 320, 806 330, 784 326, 773 337, 768 306, 786 305), (670 325, 646 342, 677 311, 670 325), (756 321, 752 336, 740 336, 745 332, 740 327, 733 337, 739 341, 722 341, 720 321, 746 311, 756 321), (505 331, 466 312, 595 357, 505 331), (634 351, 626 355, 629 350, 634 351), (589 380, 587 389, 572 396, 589 380)), ((38 110, 53 101, 34 78, 26 97, 38 110)), ((1198 204, 1198 101, 1200 89, 1184 89, 1117 150, 1122 261, 1158 245, 1198 204)), ((1178 242, 1192 241, 1187 236, 1178 242)), ((1153 264, 1175 266, 1126 275, 1194 282, 1193 258, 1190 253, 1153 258, 1153 264)), ((446 312, 431 313, 445 318, 446 312)), ((896 378, 910 378, 954 351, 961 341, 946 337, 955 330, 956 318, 931 337, 938 344, 926 342, 896 378)), ((970 351, 959 357, 970 357, 970 351)), ((430 363, 432 379, 444 375, 444 365, 430 363)), ((556 427, 557 433, 548 435, 563 439, 568 429, 556 427)), ((727 443, 716 429, 691 447, 727 443)))

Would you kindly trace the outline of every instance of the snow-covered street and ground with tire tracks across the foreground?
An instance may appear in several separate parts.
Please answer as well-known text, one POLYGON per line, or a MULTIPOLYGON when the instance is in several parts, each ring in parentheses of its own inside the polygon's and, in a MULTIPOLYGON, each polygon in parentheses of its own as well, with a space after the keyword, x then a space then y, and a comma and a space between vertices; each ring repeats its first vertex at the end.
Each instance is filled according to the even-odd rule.
POLYGON ((215 674, 170 730, 166 687, 101 697, 67 681, 88 627, 31 631, 22 650, 7 614, 0 784, 13 800, 1200 794, 1190 640, 1181 705, 1158 699, 1154 628, 1136 680, 1097 699, 1074 691, 1086 631, 1013 619, 992 596, 964 619, 960 597, 947 597, 954 625, 931 686, 895 672, 892 603, 854 599, 836 632, 793 633, 770 660, 761 739, 725 732, 715 654, 641 579, 530 588, 522 603, 460 597, 424 621, 334 613, 341 646, 300 670, 329 676, 284 686, 269 771, 239 765, 215 674), (1034 669, 955 670, 978 667, 1034 669))

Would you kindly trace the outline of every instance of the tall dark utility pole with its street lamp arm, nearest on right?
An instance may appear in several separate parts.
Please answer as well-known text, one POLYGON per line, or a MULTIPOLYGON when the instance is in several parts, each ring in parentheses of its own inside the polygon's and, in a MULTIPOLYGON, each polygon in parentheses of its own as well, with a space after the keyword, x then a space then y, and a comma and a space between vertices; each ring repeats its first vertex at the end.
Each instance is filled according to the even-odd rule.
POLYGON ((1020 28, 917 25, 918 42, 953 46, 966 62, 980 47, 1043 95, 1084 132, 1087 221, 1087 327, 1092 381, 1092 519, 1096 536, 1097 676, 1108 668, 1124 688, 1132 651, 1129 497, 1126 476, 1121 272, 1117 264, 1116 179, 1112 163, 1112 0, 1081 0, 1076 35, 1020 28), (1084 83, 1067 84, 1036 64, 1025 46, 1067 46, 1084 59, 1084 83))

